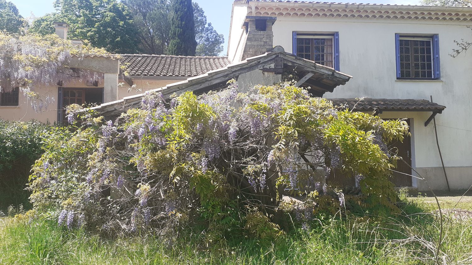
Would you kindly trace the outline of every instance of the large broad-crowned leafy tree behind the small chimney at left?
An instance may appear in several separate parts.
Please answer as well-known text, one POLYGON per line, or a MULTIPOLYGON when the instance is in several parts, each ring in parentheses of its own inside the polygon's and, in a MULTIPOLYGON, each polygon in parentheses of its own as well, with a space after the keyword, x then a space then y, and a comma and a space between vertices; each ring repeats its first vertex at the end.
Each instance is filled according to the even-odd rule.
POLYGON ((69 24, 71 39, 89 40, 109 52, 135 53, 139 40, 128 8, 117 0, 56 0, 56 12, 37 18, 30 32, 42 35, 54 32, 54 21, 69 24))

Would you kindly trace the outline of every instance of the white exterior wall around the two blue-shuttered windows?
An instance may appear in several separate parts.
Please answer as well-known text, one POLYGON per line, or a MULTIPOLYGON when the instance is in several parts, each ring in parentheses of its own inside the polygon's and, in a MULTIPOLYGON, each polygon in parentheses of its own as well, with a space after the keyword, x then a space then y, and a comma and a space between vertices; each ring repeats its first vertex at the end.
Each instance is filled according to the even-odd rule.
MULTIPOLYGON (((453 189, 472 185, 472 60, 449 56, 454 40, 471 39, 471 23, 401 19, 280 16, 273 26, 274 45, 292 51, 292 32, 339 32, 340 71, 354 76, 327 98, 430 99, 447 109, 436 116, 439 144, 453 189), (439 34, 441 80, 396 80, 395 33, 439 34)), ((434 189, 445 189, 431 112, 384 112, 384 118, 413 118, 413 165, 434 189)), ((413 183, 415 181, 413 180, 413 183)), ((418 181, 420 190, 426 187, 418 181)))

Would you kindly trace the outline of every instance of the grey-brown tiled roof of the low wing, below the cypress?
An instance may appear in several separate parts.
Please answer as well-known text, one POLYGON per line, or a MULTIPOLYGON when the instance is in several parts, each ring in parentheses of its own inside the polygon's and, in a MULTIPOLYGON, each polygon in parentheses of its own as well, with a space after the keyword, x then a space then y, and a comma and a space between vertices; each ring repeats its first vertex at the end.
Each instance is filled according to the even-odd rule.
POLYGON ((230 64, 227 57, 120 54, 130 76, 193 77, 230 64))

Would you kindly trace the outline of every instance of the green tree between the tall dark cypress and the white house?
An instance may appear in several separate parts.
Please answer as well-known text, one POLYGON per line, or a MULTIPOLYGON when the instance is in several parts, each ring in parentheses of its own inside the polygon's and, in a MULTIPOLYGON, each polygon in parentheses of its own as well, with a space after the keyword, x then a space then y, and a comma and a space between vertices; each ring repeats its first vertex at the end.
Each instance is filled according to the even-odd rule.
POLYGON ((225 38, 211 25, 203 9, 194 2, 195 40, 197 41, 196 55, 218 56, 223 51, 225 38))

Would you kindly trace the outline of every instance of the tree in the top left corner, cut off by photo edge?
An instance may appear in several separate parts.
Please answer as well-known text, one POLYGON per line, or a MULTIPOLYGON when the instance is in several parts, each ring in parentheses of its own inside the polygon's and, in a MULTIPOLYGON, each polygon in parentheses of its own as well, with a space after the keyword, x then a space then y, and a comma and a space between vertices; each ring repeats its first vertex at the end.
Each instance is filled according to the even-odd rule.
POLYGON ((0 31, 20 33, 27 25, 12 2, 0 0, 0 31))

